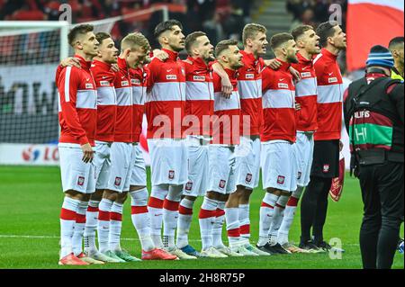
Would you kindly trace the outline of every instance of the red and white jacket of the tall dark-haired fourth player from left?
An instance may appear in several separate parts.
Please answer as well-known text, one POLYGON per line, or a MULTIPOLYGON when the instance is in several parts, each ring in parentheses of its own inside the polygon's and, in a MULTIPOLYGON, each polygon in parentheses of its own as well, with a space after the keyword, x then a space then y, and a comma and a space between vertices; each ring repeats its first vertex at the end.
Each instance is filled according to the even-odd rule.
POLYGON ((183 139, 185 111, 185 68, 178 53, 164 50, 165 62, 154 58, 148 65, 146 113, 148 139, 183 139))

